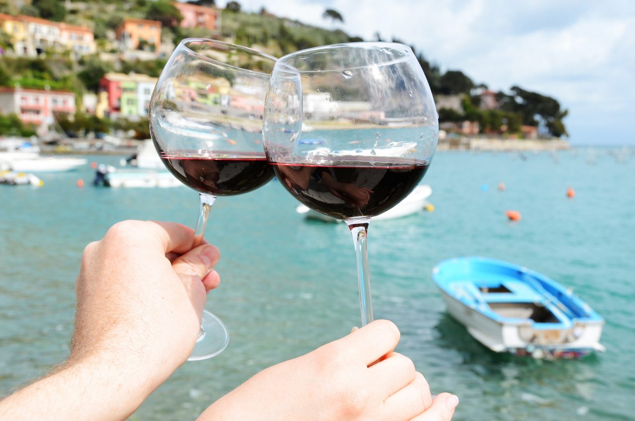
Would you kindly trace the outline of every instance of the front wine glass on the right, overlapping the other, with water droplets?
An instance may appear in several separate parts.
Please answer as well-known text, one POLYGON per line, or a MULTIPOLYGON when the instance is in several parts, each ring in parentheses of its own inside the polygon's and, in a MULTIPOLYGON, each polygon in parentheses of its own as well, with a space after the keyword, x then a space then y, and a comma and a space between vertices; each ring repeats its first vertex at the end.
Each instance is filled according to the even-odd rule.
POLYGON ((321 46, 285 55, 272 71, 267 159, 291 195, 351 229, 362 326, 373 321, 368 224, 417 187, 438 132, 430 87, 408 46, 321 46))

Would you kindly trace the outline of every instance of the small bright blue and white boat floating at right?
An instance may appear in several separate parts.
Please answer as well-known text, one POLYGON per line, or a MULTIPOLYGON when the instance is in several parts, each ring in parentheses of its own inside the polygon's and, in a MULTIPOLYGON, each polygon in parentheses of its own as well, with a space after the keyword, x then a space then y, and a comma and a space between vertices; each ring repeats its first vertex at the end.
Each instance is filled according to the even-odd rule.
POLYGON ((573 358, 605 351, 600 317, 570 289, 504 261, 466 257, 432 270, 448 312, 495 352, 573 358))

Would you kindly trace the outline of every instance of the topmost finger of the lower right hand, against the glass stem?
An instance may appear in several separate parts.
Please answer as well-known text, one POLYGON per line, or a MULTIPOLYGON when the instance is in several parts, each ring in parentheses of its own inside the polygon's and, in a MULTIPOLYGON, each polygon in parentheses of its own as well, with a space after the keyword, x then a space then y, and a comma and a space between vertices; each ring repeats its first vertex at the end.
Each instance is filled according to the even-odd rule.
POLYGON ((376 320, 335 341, 368 365, 389 354, 399 343, 399 329, 391 321, 376 320))

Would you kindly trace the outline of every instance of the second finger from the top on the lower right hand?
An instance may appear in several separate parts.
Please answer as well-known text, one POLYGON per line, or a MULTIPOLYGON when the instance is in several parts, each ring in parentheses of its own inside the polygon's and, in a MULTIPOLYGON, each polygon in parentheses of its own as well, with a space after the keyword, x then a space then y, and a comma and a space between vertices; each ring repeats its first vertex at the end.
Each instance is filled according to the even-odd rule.
POLYGON ((382 399, 386 399, 415 380, 416 371, 410 358, 391 352, 384 361, 369 367, 368 373, 376 380, 382 399))

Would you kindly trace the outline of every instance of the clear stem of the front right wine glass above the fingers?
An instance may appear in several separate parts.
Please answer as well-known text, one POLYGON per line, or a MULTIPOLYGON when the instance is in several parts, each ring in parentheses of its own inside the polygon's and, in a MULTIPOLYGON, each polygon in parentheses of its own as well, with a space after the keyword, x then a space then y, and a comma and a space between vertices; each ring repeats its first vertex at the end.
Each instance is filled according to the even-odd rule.
POLYGON ((348 219, 346 223, 351 229, 357 258, 361 326, 366 326, 373 321, 373 303, 370 295, 370 277, 368 277, 368 251, 366 249, 370 217, 348 219))

